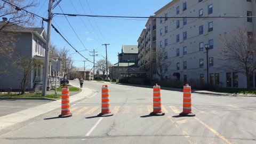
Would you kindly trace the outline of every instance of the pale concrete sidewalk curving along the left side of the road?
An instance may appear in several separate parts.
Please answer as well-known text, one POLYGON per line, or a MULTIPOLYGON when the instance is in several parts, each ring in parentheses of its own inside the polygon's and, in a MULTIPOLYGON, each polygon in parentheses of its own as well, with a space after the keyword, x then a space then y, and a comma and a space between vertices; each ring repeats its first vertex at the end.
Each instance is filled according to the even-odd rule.
MULTIPOLYGON (((92 93, 93 93, 93 91, 91 89, 83 87, 81 92, 69 97, 69 101, 71 103, 71 102, 75 102, 77 100, 81 100, 83 98, 88 97, 92 93)), ((17 124, 17 123, 27 121, 30 118, 47 113, 47 112, 57 109, 57 108, 60 108, 60 112, 61 112, 61 99, 57 100, 57 101, 45 103, 45 104, 37 106, 37 107, 22 110, 17 113, 2 116, 2 117, 0 117, 0 130, 5 129, 6 127, 9 127, 9 126, 17 124)))

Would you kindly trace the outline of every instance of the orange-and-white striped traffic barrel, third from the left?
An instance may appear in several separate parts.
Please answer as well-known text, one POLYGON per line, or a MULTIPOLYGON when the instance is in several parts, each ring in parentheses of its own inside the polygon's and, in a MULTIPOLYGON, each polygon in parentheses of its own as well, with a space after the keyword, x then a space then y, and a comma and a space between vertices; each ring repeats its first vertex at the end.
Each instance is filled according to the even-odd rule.
POLYGON ((153 112, 150 115, 163 116, 161 103, 161 87, 159 85, 153 86, 153 112))

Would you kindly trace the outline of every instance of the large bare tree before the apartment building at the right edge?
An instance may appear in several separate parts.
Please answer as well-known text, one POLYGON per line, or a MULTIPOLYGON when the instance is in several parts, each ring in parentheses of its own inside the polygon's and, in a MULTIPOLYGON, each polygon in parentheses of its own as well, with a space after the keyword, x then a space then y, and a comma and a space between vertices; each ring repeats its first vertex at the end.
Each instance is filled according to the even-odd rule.
POLYGON ((219 47, 219 59, 223 60, 221 67, 228 71, 235 71, 246 76, 247 88, 250 88, 250 76, 252 76, 256 61, 256 34, 248 32, 247 28, 237 28, 230 36, 220 37, 222 46, 219 47))

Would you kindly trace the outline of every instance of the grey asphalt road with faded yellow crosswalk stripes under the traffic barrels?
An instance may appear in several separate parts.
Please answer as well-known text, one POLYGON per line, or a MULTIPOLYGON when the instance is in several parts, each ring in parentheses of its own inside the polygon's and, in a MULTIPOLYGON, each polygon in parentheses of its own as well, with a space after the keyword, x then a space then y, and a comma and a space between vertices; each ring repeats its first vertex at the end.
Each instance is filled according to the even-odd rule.
MULTIPOLYGON (((0 143, 255 143, 255 97, 192 94, 195 117, 181 117, 183 93, 161 90, 164 116, 150 116, 153 89, 108 83, 110 111, 101 112, 101 87, 71 105, 73 116, 59 109, 0 131, 0 143)), ((78 84, 77 84, 78 85, 78 84)))

